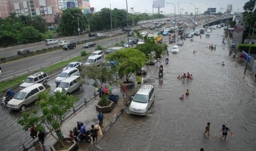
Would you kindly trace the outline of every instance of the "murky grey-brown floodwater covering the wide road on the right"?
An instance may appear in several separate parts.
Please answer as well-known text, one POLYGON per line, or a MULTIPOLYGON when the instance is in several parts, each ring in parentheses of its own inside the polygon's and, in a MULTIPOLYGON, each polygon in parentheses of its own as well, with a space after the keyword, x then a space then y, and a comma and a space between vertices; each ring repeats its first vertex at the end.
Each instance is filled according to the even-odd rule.
POLYGON ((155 86, 156 99, 149 114, 132 115, 127 107, 97 146, 103 150, 255 150, 254 75, 248 68, 243 75, 244 63, 228 56, 222 35, 223 28, 213 30, 210 38, 202 34, 194 42, 187 39, 178 54, 170 53, 162 82, 151 68, 148 83, 155 86), (212 43, 216 50, 206 48, 212 43), (177 79, 187 72, 193 80, 177 79), (179 100, 187 89, 189 97, 179 100), (210 138, 203 135, 208 122, 210 138), (222 124, 233 137, 228 133, 226 140, 219 138, 222 124))

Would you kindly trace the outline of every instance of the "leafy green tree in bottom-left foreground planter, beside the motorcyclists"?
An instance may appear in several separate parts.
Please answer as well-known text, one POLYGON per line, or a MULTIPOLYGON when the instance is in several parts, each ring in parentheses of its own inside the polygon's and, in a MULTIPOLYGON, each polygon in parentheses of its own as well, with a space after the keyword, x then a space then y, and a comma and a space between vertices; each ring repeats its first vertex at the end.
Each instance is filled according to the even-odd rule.
POLYGON ((28 131, 32 125, 36 125, 37 131, 42 131, 43 127, 46 127, 50 130, 50 135, 65 148, 63 138, 57 134, 61 131, 66 113, 77 99, 73 95, 67 96, 64 89, 61 92, 57 91, 55 95, 49 94, 49 91, 41 92, 39 99, 36 104, 40 106, 42 113, 39 114, 36 110, 32 114, 24 112, 18 123, 25 131, 28 131))

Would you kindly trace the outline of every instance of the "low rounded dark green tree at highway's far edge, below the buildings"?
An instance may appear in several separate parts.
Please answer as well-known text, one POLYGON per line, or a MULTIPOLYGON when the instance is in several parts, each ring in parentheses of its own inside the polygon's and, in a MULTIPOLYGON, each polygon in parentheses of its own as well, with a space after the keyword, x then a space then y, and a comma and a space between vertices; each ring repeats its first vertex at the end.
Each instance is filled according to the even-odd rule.
POLYGON ((32 26, 26 26, 21 30, 19 42, 21 43, 35 43, 43 40, 42 34, 35 30, 32 26))

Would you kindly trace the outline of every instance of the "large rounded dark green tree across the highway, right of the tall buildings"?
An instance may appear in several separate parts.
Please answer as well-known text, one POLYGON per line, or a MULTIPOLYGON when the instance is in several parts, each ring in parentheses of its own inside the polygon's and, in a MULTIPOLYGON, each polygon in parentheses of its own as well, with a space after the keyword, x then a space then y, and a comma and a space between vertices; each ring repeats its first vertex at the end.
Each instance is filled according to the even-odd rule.
POLYGON ((85 31, 88 28, 88 19, 80 9, 68 8, 63 10, 57 31, 63 36, 78 35, 78 20, 80 32, 85 31))

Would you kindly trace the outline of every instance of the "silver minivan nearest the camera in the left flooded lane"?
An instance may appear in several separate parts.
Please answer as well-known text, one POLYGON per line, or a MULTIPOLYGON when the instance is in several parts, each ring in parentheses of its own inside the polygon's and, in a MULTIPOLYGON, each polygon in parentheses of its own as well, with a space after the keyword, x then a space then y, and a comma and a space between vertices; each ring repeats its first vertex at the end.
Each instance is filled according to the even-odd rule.
POLYGON ((26 109, 30 103, 38 99, 40 92, 45 91, 45 86, 40 83, 35 83, 25 89, 20 90, 13 98, 7 103, 7 107, 13 110, 26 109))

